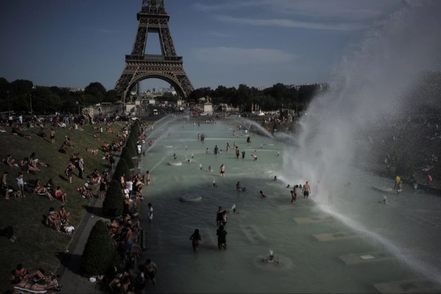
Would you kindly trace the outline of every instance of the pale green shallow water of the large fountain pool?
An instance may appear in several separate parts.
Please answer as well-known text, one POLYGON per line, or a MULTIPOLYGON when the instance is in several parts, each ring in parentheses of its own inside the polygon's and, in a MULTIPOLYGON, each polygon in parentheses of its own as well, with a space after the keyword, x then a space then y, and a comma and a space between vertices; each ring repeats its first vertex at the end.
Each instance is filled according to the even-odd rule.
MULTIPOLYGON (((286 183, 272 180, 274 175, 283 178, 280 170, 284 143, 250 134, 251 144, 247 145, 248 135, 239 131, 238 137, 233 137, 234 128, 232 123, 187 125, 184 129, 182 124, 174 123, 167 130, 170 136, 164 136, 143 158, 142 172, 151 173, 151 185, 145 189, 142 204, 145 220, 147 202, 154 209, 153 222, 144 222, 149 246, 145 258, 158 265, 157 285, 154 289, 149 286, 148 291, 377 293, 373 284, 423 276, 416 270, 417 266, 434 267, 436 272, 436 261, 440 258, 436 253, 440 241, 437 197, 405 190, 400 196, 387 194, 390 203, 379 204, 377 201, 382 200, 384 193, 373 190, 372 186, 391 186, 391 181, 354 168, 347 178, 351 182, 349 186, 332 189, 331 207, 327 198, 315 197, 314 184, 310 199, 301 198, 298 191, 296 203, 290 203, 286 183), (205 142, 196 140, 198 133, 207 135, 205 142), (234 141, 241 152, 245 150, 245 159, 236 159, 234 141), (229 153, 227 142, 231 147, 229 153), (213 155, 215 145, 222 149, 222 154, 213 155), (255 149, 257 161, 251 157, 255 149), (182 166, 168 165, 173 161, 173 153, 182 166), (193 162, 188 163, 192 153, 193 162), (219 174, 221 164, 226 166, 225 177, 219 174), (209 165, 212 172, 208 172, 209 165), (213 180, 217 188, 212 187, 213 180), (247 188, 246 192, 236 191, 237 181, 247 188), (267 198, 262 198, 259 190, 267 198), (202 200, 182 202, 179 196, 184 194, 199 195, 202 200), (216 211, 218 206, 229 210, 233 204, 239 214, 228 215, 228 247, 220 251, 216 211), (331 221, 294 221, 294 218, 329 216, 333 217, 331 221), (352 227, 344 223, 346 217, 352 227), (368 233, 360 231, 361 226, 368 233), (202 238, 196 253, 189 240, 195 228, 202 238), (319 242, 313 236, 334 232, 353 232, 356 237, 319 242), (408 263, 397 259, 355 266, 347 266, 339 258, 350 253, 396 249, 391 244, 418 248, 424 254, 408 263), (262 257, 268 257, 270 248, 275 258, 279 258, 279 265, 261 261, 262 257)), ((303 184, 296 181, 290 184, 303 184)))

